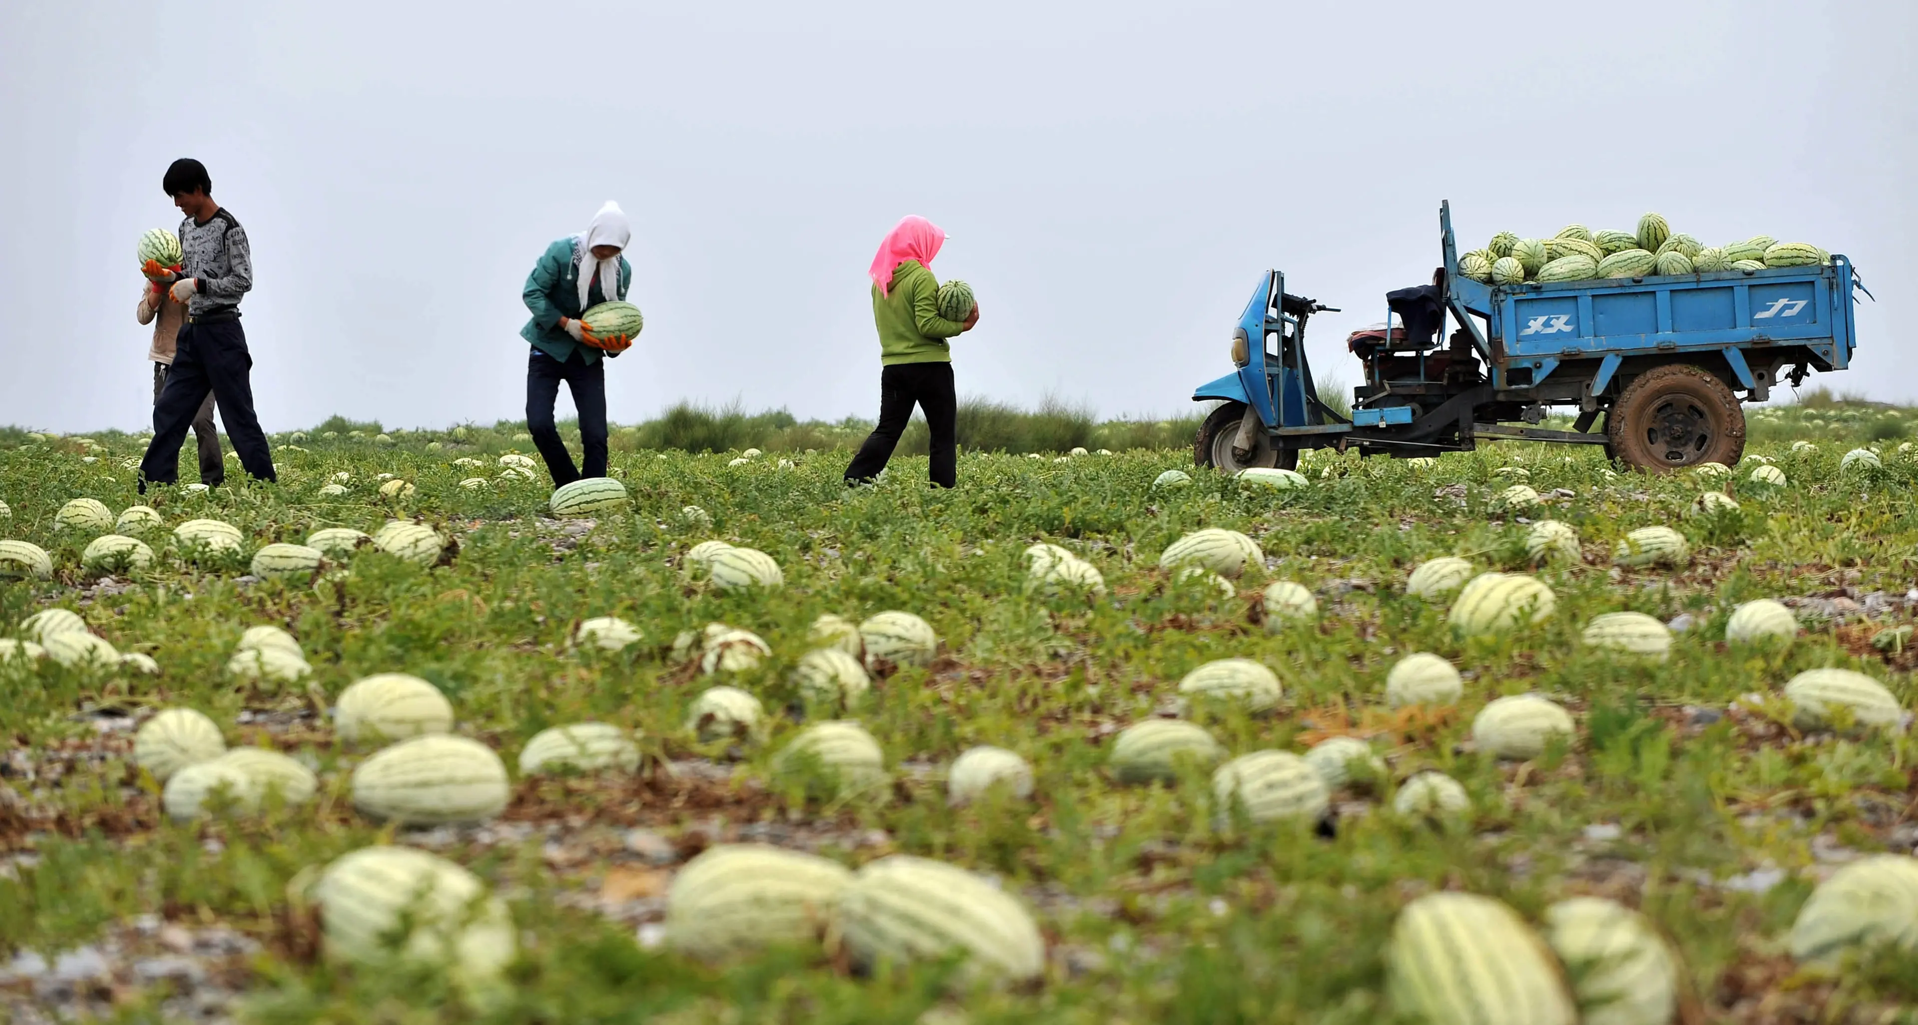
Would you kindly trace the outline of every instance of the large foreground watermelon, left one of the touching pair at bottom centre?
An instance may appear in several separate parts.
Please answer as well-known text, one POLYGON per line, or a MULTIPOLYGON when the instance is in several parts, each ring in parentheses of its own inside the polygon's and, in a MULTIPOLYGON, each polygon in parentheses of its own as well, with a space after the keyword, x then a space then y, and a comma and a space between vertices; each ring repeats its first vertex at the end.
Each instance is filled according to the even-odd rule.
POLYGON ((666 891, 666 945, 719 960, 767 945, 819 943, 852 872, 760 843, 708 847, 666 891))

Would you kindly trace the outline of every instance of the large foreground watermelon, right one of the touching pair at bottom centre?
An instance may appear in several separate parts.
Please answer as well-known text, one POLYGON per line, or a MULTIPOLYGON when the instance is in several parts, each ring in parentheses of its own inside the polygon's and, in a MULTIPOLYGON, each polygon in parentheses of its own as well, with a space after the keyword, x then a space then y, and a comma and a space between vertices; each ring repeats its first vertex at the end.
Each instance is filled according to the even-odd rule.
POLYGON ((1020 983, 1045 969, 1045 939, 1013 895, 963 868, 890 854, 838 895, 838 935, 855 964, 963 958, 972 983, 1020 983))

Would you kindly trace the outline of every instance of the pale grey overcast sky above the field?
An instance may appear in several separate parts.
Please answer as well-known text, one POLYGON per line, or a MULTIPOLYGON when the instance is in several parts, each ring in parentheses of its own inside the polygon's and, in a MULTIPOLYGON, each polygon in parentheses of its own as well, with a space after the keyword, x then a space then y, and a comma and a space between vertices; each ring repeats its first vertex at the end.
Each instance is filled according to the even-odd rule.
MULTIPOLYGON (((1174 414, 1260 274, 1345 333, 1462 241, 1655 209, 1847 253, 1837 389, 1918 400, 1918 4, 0 6, 0 423, 150 421, 134 239, 178 155, 246 224, 269 429, 524 416, 520 287, 604 199, 646 330, 610 416, 875 416, 905 213, 980 297, 961 395, 1174 414)), ((1814 377, 1816 379, 1816 377, 1814 377)), ((562 416, 570 402, 562 397, 562 416)))

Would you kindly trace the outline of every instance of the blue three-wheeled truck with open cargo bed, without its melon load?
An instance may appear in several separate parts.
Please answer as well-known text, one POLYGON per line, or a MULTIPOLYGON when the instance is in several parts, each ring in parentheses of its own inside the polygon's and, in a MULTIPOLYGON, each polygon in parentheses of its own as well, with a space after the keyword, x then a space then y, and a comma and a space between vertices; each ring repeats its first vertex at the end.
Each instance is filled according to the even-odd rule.
POLYGON ((1862 285, 1839 255, 1486 285, 1458 272, 1450 203, 1438 228, 1433 284, 1389 293, 1385 328, 1346 339, 1366 374, 1350 416, 1320 402, 1304 351, 1306 320, 1333 307, 1287 295, 1285 276, 1268 272, 1231 337, 1237 370, 1193 393, 1220 400, 1193 444, 1199 466, 1293 469, 1300 448, 1435 456, 1502 439, 1602 444, 1644 469, 1732 466, 1745 448, 1742 400, 1763 402, 1780 376, 1797 385, 1851 362, 1862 285), (1577 406, 1571 431, 1538 427, 1554 406, 1577 406))

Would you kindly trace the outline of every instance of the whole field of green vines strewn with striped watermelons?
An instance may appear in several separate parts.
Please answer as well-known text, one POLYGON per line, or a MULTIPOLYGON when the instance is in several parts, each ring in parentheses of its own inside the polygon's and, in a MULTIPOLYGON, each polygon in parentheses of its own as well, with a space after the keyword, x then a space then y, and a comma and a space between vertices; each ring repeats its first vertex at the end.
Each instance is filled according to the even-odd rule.
POLYGON ((0 431, 0 1017, 1918 1021, 1914 423, 955 490, 621 431, 562 496, 316 429, 144 500, 0 431))

